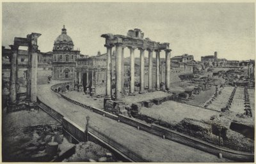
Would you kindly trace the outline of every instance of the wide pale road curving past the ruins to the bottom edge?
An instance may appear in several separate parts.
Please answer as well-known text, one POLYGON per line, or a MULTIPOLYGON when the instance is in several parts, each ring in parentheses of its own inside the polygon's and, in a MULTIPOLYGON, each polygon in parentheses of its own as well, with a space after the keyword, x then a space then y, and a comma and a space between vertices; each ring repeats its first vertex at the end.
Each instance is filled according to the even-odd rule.
POLYGON ((38 86, 38 98, 41 101, 83 128, 85 127, 85 117, 90 116, 90 126, 93 126, 100 133, 110 135, 119 144, 129 146, 135 153, 140 154, 147 160, 164 162, 228 161, 198 149, 165 140, 145 131, 136 130, 136 128, 127 124, 117 123, 113 119, 85 110, 57 96, 51 91, 51 86, 52 84, 38 86))

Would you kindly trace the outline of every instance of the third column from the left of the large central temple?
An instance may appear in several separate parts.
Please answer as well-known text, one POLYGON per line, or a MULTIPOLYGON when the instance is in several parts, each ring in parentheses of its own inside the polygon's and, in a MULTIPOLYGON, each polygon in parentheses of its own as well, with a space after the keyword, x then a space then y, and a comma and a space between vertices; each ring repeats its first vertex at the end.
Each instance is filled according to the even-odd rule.
POLYGON ((130 94, 134 94, 134 50, 135 47, 129 47, 130 49, 130 94))

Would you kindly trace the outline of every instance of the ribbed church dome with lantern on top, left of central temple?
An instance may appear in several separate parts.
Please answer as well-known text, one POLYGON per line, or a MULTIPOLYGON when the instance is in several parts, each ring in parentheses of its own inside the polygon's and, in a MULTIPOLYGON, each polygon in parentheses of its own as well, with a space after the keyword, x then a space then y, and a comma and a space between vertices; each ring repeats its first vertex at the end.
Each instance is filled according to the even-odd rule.
POLYGON ((67 35, 67 29, 63 26, 61 34, 54 41, 54 50, 73 50, 74 43, 70 36, 67 35))

